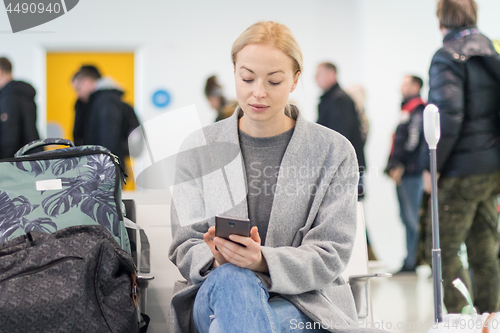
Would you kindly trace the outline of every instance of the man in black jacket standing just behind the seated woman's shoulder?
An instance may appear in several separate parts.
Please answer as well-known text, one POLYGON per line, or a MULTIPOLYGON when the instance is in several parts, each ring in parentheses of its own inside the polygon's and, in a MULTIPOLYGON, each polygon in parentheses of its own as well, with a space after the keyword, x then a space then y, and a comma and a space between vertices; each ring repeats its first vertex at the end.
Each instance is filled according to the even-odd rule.
MULTIPOLYGON (((351 142, 358 158, 360 176, 366 169, 363 152, 361 123, 356 106, 337 82, 337 67, 329 62, 321 63, 316 72, 316 83, 323 90, 318 105, 317 123, 342 134, 351 142)), ((364 195, 362 178, 358 187, 359 198, 364 195)))

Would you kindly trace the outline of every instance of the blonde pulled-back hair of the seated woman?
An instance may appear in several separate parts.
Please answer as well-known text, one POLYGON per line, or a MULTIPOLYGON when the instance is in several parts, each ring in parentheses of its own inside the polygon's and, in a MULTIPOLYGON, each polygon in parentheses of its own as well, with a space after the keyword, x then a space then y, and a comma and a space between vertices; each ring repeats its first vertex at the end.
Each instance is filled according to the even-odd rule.
POLYGON ((289 56, 293 61, 294 74, 302 73, 303 60, 299 43, 290 29, 280 23, 267 21, 252 24, 236 39, 231 50, 233 65, 236 65, 236 55, 245 46, 252 44, 268 44, 289 56))

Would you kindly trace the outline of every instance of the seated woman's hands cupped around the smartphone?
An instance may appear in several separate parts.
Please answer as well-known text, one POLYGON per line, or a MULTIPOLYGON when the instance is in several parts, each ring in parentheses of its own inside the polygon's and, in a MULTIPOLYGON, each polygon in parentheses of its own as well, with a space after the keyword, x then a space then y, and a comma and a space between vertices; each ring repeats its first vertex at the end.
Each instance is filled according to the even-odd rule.
MULTIPOLYGON (((215 227, 208 229, 205 235, 211 234, 211 232, 213 232, 212 235, 215 236, 215 227)), ((218 264, 222 265, 226 262, 230 262, 235 266, 247 268, 255 272, 269 272, 266 260, 264 256, 262 256, 260 250, 261 240, 257 227, 253 227, 252 230, 250 230, 250 237, 230 235, 229 238, 233 242, 240 243, 246 247, 230 242, 224 238, 212 237, 212 245, 208 244, 208 242, 207 244, 210 246, 212 253, 214 253, 214 258, 218 264), (218 250, 215 249, 215 246, 217 246, 218 250), (222 256, 222 258, 220 258, 220 256, 222 256)))

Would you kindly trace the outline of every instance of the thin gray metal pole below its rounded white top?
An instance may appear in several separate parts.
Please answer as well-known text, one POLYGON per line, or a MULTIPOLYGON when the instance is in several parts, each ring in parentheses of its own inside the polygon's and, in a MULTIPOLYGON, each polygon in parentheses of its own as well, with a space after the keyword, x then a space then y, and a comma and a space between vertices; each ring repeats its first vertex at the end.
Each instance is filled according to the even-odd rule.
POLYGON ((441 248, 439 246, 439 214, 437 193, 436 149, 429 149, 431 157, 431 202, 432 202, 432 277, 434 284, 434 321, 443 321, 441 248))

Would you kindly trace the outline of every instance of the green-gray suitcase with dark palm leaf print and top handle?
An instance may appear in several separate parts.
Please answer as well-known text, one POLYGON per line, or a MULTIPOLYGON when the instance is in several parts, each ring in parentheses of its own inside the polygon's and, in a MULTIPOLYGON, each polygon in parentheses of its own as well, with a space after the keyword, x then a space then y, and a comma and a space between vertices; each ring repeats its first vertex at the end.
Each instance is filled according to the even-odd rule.
POLYGON ((0 160, 0 243, 30 231, 52 233, 76 225, 106 227, 130 254, 123 223, 118 158, 101 146, 45 139, 0 160), (64 145, 29 154, 48 145, 64 145))

